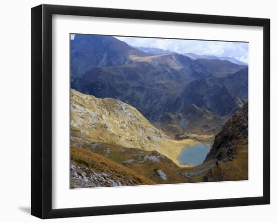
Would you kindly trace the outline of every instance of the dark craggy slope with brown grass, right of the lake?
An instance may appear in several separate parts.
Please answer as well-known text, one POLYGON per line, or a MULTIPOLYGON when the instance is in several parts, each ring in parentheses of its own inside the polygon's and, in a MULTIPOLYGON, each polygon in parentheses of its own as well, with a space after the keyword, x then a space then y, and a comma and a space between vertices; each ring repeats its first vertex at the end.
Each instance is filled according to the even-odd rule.
POLYGON ((204 162, 216 160, 203 181, 248 179, 248 103, 238 110, 216 135, 204 162))

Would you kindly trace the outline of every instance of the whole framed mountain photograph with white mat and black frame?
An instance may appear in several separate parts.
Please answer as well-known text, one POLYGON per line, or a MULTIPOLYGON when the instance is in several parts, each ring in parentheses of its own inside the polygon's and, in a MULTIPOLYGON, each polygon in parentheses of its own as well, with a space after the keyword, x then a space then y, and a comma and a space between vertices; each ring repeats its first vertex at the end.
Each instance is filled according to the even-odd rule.
POLYGON ((269 204, 269 19, 31 10, 31 214, 269 204))

